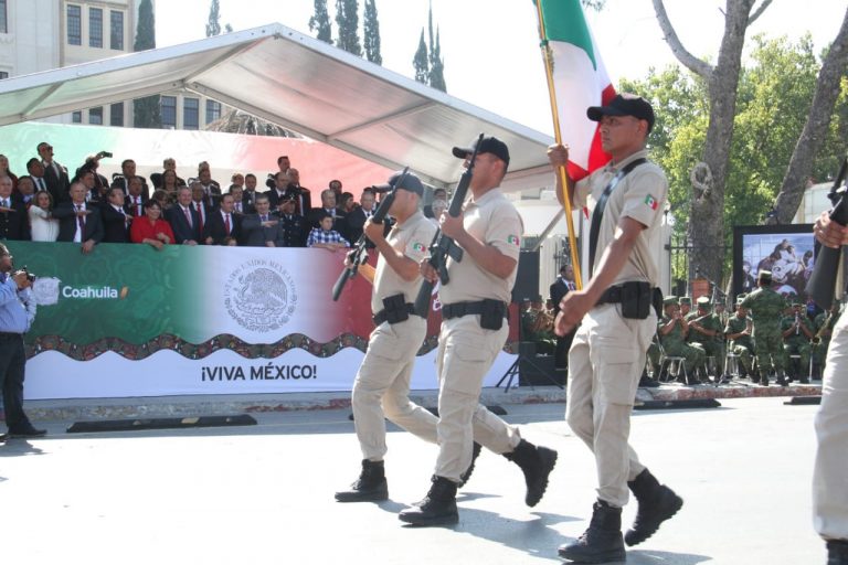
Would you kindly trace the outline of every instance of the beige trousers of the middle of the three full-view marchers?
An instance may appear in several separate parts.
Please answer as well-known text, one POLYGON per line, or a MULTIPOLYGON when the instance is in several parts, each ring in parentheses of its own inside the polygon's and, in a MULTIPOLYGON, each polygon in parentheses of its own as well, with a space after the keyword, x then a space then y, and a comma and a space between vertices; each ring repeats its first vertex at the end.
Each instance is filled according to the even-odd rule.
POLYGON ((509 334, 480 328, 480 317, 463 316, 442 322, 438 335, 438 458, 435 475, 452 481, 471 465, 476 440, 496 454, 512 451, 521 441, 518 428, 479 404, 486 373, 509 334))

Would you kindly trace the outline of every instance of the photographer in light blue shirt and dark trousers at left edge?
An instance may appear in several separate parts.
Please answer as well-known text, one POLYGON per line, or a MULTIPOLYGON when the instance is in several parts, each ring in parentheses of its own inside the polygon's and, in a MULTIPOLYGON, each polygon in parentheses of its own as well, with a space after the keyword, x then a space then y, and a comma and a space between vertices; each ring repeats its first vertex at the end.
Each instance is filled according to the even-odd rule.
POLYGON ((35 429, 23 413, 23 372, 26 366, 23 334, 35 319, 35 298, 30 290, 34 278, 25 268, 12 273, 12 256, 0 244, 0 383, 6 425, 11 437, 46 434, 44 429, 35 429))

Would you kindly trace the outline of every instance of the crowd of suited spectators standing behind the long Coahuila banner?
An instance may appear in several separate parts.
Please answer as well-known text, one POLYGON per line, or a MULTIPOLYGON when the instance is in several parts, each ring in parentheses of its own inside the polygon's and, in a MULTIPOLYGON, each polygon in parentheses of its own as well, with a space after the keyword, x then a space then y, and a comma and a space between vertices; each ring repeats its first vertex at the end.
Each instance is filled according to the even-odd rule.
MULTIPOLYGON (((205 161, 195 177, 183 180, 173 158, 149 179, 125 159, 109 180, 98 173, 100 159, 109 153, 86 158, 72 174, 53 158, 49 142, 36 151, 21 175, 0 154, 0 239, 75 242, 83 253, 98 243, 336 250, 359 239, 378 199, 367 188, 357 202, 341 181, 332 180, 314 202, 287 156, 277 159, 277 171, 267 174, 264 185, 255 174, 241 172, 222 185, 205 161)), ((445 207, 443 194, 434 209, 445 207)))

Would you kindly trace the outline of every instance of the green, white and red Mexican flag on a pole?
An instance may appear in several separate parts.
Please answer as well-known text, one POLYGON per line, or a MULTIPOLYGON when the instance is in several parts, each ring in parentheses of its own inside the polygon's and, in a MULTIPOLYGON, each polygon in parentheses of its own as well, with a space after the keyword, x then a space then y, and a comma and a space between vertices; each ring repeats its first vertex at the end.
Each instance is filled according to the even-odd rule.
POLYGON ((541 4, 542 36, 548 40, 562 142, 569 146, 569 175, 576 180, 603 167, 598 124, 586 108, 607 104, 615 89, 597 51, 580 0, 536 0, 541 4))

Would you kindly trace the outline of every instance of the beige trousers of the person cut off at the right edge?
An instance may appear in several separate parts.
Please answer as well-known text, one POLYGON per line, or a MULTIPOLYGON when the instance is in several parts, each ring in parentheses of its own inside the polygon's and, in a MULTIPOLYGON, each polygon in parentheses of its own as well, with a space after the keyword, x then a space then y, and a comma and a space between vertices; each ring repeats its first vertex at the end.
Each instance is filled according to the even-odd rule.
POLYGON ((826 540, 848 540, 848 316, 834 328, 815 419, 813 522, 826 540))

